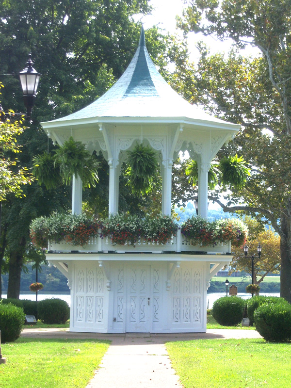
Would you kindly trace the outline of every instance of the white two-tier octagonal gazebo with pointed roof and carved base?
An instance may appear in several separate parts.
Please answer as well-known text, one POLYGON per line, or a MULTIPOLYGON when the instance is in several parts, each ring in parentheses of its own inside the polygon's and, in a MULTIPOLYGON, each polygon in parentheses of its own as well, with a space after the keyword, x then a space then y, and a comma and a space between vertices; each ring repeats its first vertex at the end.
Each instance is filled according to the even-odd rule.
MULTIPOLYGON (((63 145, 70 136, 101 151, 110 167, 109 214, 118 213, 119 175, 137 143, 160 156, 162 213, 171 214, 172 165, 180 151, 198 164, 198 214, 207 217, 208 170, 239 125, 211 117, 180 97, 162 78, 146 49, 144 30, 122 77, 92 104, 42 123, 63 145)), ((73 179, 72 212, 81 213, 82 182, 73 179)), ((85 247, 49 244, 47 259, 71 290, 70 330, 81 332, 205 332, 210 278, 232 259, 230 242, 193 246, 113 245, 96 239, 85 247)))

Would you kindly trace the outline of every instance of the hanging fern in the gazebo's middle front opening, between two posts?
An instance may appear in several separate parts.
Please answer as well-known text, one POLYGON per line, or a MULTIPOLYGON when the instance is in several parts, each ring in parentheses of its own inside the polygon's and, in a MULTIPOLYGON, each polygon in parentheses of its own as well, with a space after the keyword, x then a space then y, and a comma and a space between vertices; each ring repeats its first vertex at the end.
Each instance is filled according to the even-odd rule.
POLYGON ((157 178, 159 164, 157 153, 149 146, 137 144, 132 151, 127 152, 129 167, 126 176, 128 186, 135 195, 145 195, 153 191, 153 183, 157 178))

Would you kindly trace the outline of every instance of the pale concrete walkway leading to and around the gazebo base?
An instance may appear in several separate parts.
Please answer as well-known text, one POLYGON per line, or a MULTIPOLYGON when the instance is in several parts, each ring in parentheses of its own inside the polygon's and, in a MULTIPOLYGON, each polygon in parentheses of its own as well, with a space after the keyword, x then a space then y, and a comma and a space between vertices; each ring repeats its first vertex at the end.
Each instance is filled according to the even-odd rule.
POLYGON ((107 339, 112 343, 86 388, 181 388, 165 342, 190 339, 261 338, 255 330, 215 329, 207 333, 100 334, 68 329, 24 329, 21 337, 107 339))

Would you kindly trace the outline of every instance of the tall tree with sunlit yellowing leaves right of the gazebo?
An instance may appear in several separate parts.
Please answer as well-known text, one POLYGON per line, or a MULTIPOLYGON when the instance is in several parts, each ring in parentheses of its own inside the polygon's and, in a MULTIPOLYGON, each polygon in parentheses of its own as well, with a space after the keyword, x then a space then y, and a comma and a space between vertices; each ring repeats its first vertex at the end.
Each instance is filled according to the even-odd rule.
POLYGON ((189 1, 180 26, 185 33, 233 41, 228 57, 210 55, 200 44, 197 66, 180 66, 174 81, 190 101, 242 125, 219 157, 242 150, 251 175, 244 188, 226 194, 226 203, 219 191, 210 198, 225 211, 241 211, 273 226, 280 236, 281 296, 291 302, 291 2, 189 1), (246 46, 260 54, 239 55, 246 46))

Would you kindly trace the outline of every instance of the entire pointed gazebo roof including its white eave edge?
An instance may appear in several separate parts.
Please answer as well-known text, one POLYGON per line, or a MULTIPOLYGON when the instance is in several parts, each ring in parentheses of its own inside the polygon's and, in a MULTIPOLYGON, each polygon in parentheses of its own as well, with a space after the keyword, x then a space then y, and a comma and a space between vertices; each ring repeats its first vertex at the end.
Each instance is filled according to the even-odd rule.
POLYGON ((103 96, 78 112, 41 124, 49 130, 79 125, 84 129, 94 123, 185 123, 234 132, 240 128, 191 105, 171 88, 150 59, 143 28, 128 68, 103 96))

